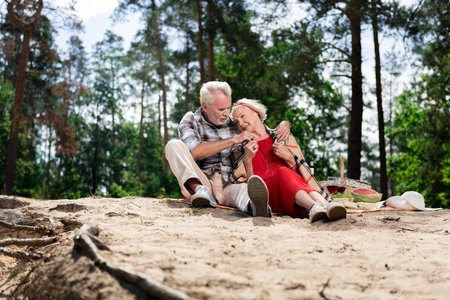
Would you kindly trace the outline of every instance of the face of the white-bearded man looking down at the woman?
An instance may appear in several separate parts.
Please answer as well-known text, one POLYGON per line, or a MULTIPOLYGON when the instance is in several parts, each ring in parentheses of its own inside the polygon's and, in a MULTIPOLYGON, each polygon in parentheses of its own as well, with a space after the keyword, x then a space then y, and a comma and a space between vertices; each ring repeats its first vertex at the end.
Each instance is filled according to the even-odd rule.
POLYGON ((222 91, 214 94, 211 104, 202 103, 205 119, 215 126, 224 125, 228 121, 231 109, 231 96, 225 96, 222 91))

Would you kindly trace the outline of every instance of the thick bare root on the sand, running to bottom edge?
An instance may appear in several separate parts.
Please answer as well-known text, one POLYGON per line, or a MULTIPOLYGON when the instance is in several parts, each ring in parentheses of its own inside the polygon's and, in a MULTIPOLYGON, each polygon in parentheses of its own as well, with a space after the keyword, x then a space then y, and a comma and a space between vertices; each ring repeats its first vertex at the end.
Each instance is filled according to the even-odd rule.
MULTIPOLYGON (((96 242, 92 239, 94 237, 94 232, 97 232, 98 234, 98 226, 96 224, 84 224, 75 234, 74 243, 76 247, 84 250, 101 269, 107 271, 112 276, 116 276, 128 283, 138 286, 146 292, 147 295, 157 299, 194 299, 181 291, 163 285, 143 273, 128 268, 112 266, 98 251, 97 246, 95 245, 96 242)), ((97 238, 95 238, 95 240, 100 242, 97 238)), ((103 243, 101 244, 103 245, 103 243)))

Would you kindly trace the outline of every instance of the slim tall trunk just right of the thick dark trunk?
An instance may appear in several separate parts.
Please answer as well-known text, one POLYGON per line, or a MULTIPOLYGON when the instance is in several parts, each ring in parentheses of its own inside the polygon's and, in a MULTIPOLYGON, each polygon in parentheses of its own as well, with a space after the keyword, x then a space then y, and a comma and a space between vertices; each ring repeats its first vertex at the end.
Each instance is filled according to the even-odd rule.
POLYGON ((381 93, 381 59, 380 43, 378 41, 378 13, 376 0, 372 0, 372 28, 373 43, 375 47, 375 78, 378 108, 378 137, 380 147, 380 187, 383 199, 388 196, 387 170, 386 170, 386 140, 384 136, 383 97, 381 93))

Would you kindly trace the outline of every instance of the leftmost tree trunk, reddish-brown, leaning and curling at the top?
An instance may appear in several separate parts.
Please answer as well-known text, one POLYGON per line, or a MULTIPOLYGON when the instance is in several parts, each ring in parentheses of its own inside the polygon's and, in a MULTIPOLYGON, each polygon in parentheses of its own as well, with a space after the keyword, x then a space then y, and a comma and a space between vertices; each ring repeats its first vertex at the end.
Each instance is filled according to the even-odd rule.
POLYGON ((26 81, 26 71, 28 64, 28 57, 30 54, 30 41, 31 34, 39 22, 41 10, 42 10, 42 0, 39 1, 38 6, 36 7, 36 12, 34 14, 34 20, 32 23, 25 23, 23 20, 20 20, 14 12, 14 6, 19 4, 19 0, 11 0, 8 3, 8 16, 11 19, 11 22, 20 27, 23 32, 23 42, 22 42, 22 53, 20 56, 20 65, 19 65, 19 75, 17 78, 16 85, 16 96, 14 99, 14 108, 12 113, 12 121, 11 121, 11 132, 9 136, 8 142, 8 153, 6 157, 6 170, 5 170, 5 193, 7 195, 11 195, 14 188, 14 177, 16 173, 16 158, 17 158, 17 147, 19 144, 19 127, 20 127, 20 118, 22 113, 22 103, 23 103, 23 93, 25 89, 25 81, 26 81))

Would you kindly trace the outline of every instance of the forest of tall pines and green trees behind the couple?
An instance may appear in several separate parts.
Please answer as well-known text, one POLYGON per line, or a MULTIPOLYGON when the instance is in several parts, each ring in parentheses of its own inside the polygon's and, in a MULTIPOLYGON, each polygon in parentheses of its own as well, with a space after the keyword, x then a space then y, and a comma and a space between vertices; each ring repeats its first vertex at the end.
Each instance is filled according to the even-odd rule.
POLYGON ((111 18, 142 28, 93 49, 75 3, 0 3, 2 194, 181 197, 164 145, 219 80, 261 100, 269 127, 289 120, 319 180, 343 154, 345 176, 385 198, 450 208, 447 0, 120 0, 111 18))

